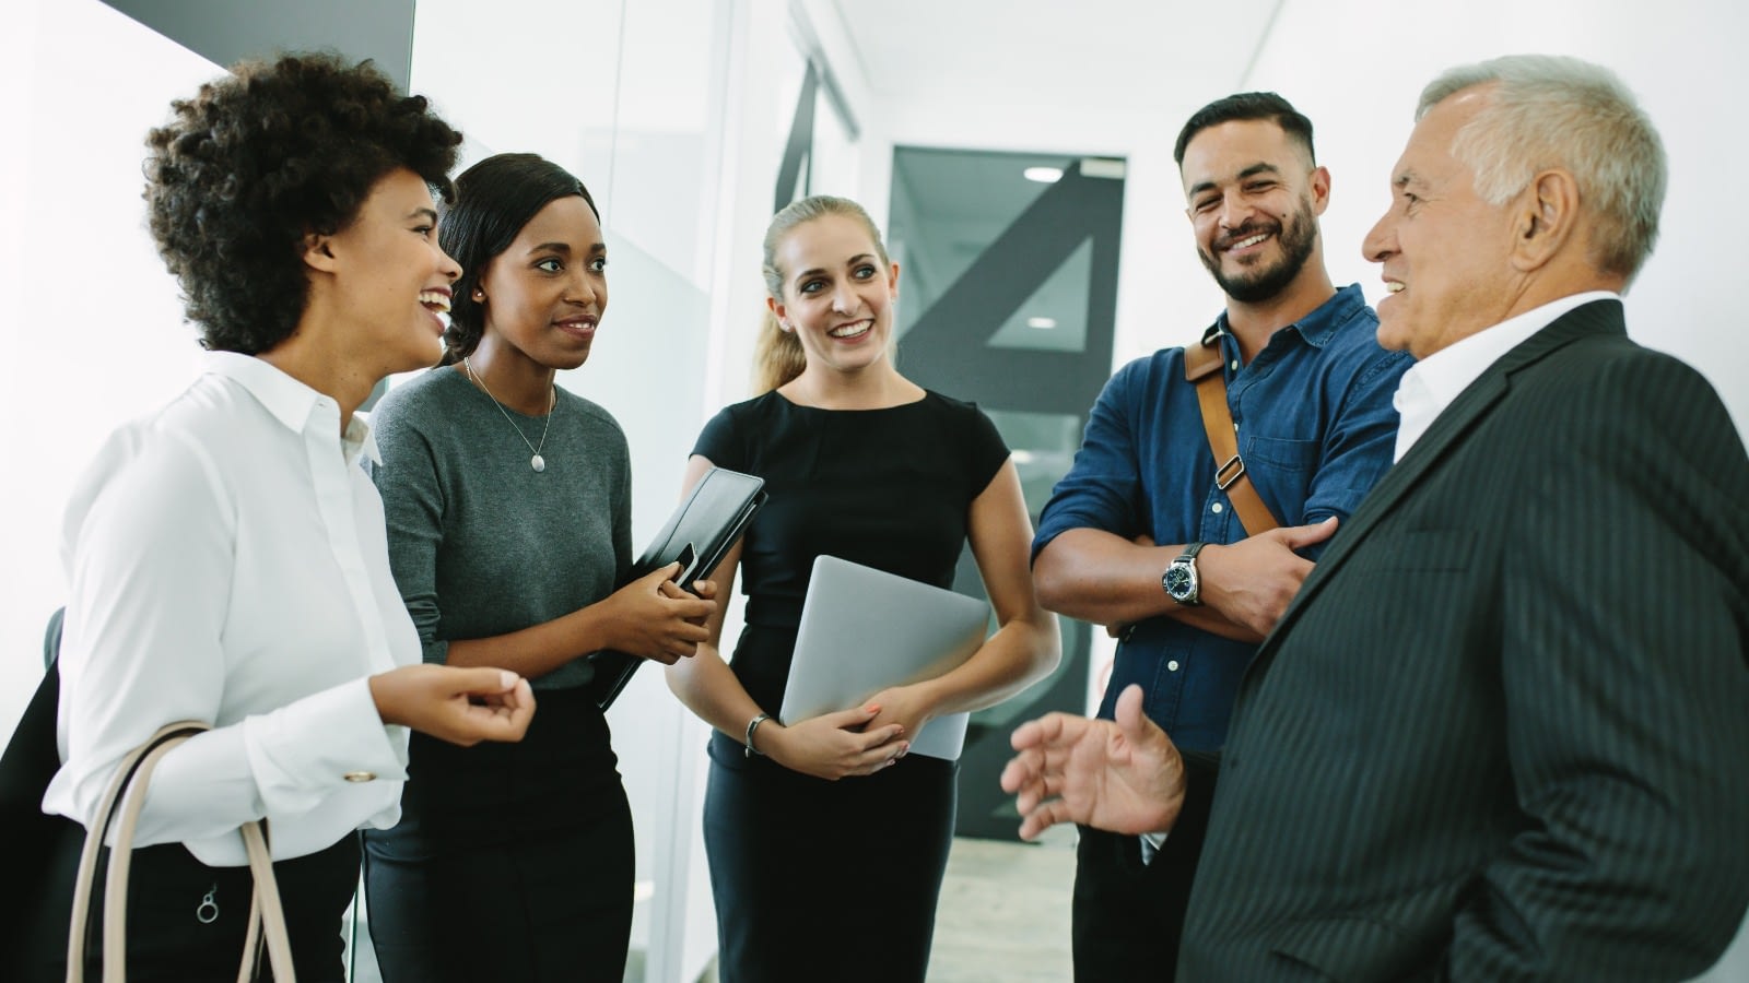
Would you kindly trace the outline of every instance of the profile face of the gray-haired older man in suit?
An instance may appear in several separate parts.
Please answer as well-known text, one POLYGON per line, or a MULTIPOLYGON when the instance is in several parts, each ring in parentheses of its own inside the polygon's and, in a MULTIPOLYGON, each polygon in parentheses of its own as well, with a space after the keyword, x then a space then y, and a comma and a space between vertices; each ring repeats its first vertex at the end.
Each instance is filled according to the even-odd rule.
POLYGON ((1476 194, 1476 175, 1452 140, 1481 108, 1467 89, 1432 107, 1392 170, 1390 208, 1366 234, 1366 259, 1383 264, 1378 343, 1425 359, 1506 320, 1513 297, 1509 205, 1476 194))

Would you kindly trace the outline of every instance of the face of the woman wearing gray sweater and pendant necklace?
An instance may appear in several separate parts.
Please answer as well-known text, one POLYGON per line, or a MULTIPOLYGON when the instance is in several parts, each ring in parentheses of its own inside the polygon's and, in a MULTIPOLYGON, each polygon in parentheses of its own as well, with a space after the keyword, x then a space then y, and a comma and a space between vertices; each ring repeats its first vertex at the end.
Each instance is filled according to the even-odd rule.
POLYGON ((607 245, 595 210, 577 194, 549 201, 491 257, 479 290, 483 345, 547 369, 584 364, 607 310, 607 245))

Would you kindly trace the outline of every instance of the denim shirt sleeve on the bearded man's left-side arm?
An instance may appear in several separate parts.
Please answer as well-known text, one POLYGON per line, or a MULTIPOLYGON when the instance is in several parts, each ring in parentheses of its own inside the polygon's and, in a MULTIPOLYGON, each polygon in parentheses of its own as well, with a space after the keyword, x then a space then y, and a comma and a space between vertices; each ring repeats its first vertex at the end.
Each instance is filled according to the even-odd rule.
POLYGON ((1144 381, 1142 369, 1144 362, 1130 362, 1098 394, 1074 465, 1039 514, 1034 560, 1072 528, 1097 528, 1125 539, 1147 532, 1132 408, 1133 390, 1144 381))

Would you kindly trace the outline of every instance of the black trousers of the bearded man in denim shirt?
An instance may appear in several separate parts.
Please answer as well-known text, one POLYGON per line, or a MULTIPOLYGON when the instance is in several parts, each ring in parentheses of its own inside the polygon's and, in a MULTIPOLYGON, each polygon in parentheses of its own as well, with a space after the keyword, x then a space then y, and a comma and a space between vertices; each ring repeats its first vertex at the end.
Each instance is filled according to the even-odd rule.
POLYGON ((1135 836, 1081 827, 1076 850, 1076 983, 1168 983, 1196 869, 1142 864, 1135 836))

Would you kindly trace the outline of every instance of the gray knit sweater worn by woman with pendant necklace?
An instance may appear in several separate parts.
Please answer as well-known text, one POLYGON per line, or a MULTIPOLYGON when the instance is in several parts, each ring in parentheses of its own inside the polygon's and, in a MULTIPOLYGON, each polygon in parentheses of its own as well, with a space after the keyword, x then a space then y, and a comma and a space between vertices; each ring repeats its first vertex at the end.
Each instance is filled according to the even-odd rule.
MULTIPOLYGON (((448 658, 451 638, 490 638, 591 605, 631 565, 631 465, 619 423, 560 388, 537 474, 528 444, 540 444, 547 418, 505 411, 509 420, 442 367, 390 390, 371 413, 388 560, 429 663, 448 658)), ((533 686, 565 689, 588 675, 567 663, 533 686)))

